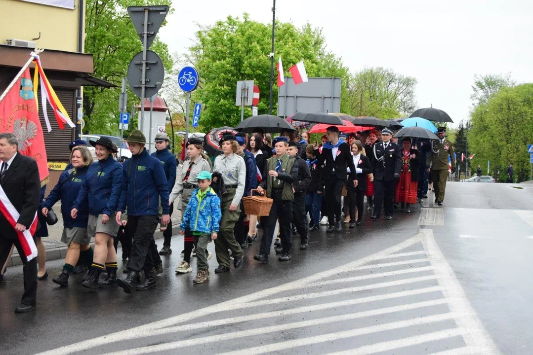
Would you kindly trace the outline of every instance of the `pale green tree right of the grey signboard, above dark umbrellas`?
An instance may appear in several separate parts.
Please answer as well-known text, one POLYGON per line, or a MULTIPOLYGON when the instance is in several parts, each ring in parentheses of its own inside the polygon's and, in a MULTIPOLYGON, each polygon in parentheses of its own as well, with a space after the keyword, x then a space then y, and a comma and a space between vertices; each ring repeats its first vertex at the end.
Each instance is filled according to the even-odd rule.
POLYGON ((408 115, 416 108, 416 78, 391 69, 365 68, 350 80, 348 113, 383 119, 408 115))

